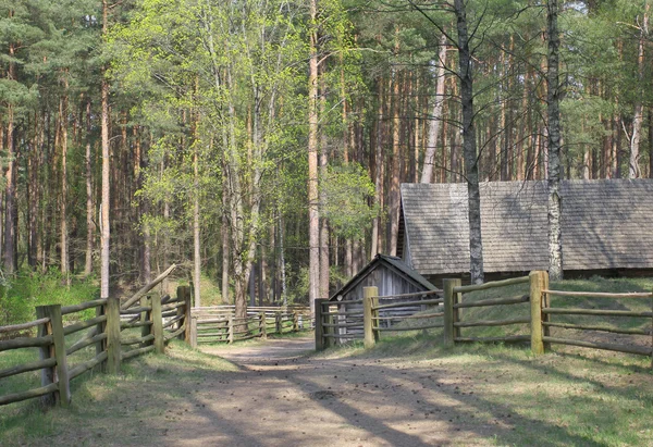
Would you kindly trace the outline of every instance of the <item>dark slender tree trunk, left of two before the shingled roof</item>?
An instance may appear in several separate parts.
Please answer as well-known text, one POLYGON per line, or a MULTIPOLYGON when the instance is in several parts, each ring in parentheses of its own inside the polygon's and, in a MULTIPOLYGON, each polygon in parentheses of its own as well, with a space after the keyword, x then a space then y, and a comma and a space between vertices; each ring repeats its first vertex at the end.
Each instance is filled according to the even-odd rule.
POLYGON ((483 283, 483 241, 481 238, 481 196, 479 190, 479 158, 473 129, 473 84, 471 53, 467 34, 467 14, 464 0, 455 0, 458 28, 458 60, 460 66, 460 97, 463 105, 463 153, 467 177, 469 206, 469 273, 472 284, 483 283))

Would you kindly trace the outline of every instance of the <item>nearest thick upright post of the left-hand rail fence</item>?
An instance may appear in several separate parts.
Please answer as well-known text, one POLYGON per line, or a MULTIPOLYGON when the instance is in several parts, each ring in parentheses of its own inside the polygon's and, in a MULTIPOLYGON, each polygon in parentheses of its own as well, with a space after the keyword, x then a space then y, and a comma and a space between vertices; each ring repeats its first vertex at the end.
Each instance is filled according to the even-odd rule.
POLYGON ((47 326, 52 335, 52 345, 49 347, 50 352, 48 357, 57 360, 52 375, 52 382, 58 384, 58 393, 54 394, 54 401, 61 407, 67 408, 71 402, 71 388, 65 357, 65 335, 61 320, 61 305, 38 306, 36 314, 40 318, 50 318, 47 326))

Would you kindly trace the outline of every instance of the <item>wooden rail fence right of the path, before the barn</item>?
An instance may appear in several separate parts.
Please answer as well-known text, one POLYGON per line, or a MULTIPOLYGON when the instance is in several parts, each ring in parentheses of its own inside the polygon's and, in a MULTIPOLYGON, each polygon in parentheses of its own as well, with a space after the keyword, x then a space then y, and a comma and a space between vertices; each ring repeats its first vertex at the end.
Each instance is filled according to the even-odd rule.
POLYGON ((537 271, 531 272, 529 276, 471 286, 463 286, 460 280, 444 280, 443 298, 426 297, 424 295, 427 294, 410 294, 409 296, 406 295, 401 297, 409 297, 415 300, 380 305, 379 302, 382 298, 398 298, 399 296, 379 297, 377 295, 377 287, 366 287, 364 289, 364 297, 360 300, 316 300, 316 349, 321 350, 333 346, 336 340, 349 342, 356 338, 364 338, 365 347, 369 348, 379 340, 380 334, 384 331, 416 331, 442 327, 442 340, 445 346, 469 342, 530 342, 532 352, 539 355, 549 349, 551 345, 560 344, 650 356, 652 358, 651 364, 653 368, 653 294, 651 293, 605 294, 552 290, 549 287, 547 272, 537 271), (517 284, 529 284, 529 294, 521 297, 482 300, 465 300, 463 296, 463 294, 466 293, 502 288, 517 284), (551 303, 551 297, 554 296, 558 302, 557 307, 554 307, 551 303), (569 301, 579 297, 586 299, 609 299, 615 300, 615 302, 618 300, 650 299, 651 311, 570 308, 567 306, 559 306, 568 305, 568 302, 560 302, 563 300, 569 301), (526 302, 530 303, 530 312, 509 319, 472 320, 466 316, 464 312, 464 309, 469 308, 516 306, 526 302), (422 308, 420 311, 416 311, 416 305, 428 309, 422 308), (362 306, 362 309, 353 309, 353 306, 362 306), (412 313, 409 314, 405 312, 401 316, 381 315, 380 312, 390 309, 411 309, 412 313), (630 325, 632 325, 632 320, 639 319, 640 322, 651 321, 651 328, 642 328, 642 324, 637 327, 629 327, 628 325, 614 326, 607 324, 587 324, 582 322, 553 322, 553 315, 566 315, 566 318, 590 315, 593 318, 631 319, 630 325), (406 324, 407 321, 417 320, 426 321, 427 324, 406 324), (359 327, 361 324, 360 321, 362 321, 364 336, 355 336, 346 333, 349 327, 359 327), (528 325, 528 330, 526 330, 523 334, 497 337, 471 337, 461 334, 465 328, 470 327, 512 325, 519 325, 521 327, 528 325), (553 328, 574 330, 581 334, 611 333, 618 334, 619 336, 623 336, 623 338, 620 344, 614 344, 582 338, 559 337, 552 336, 551 331, 553 328), (344 333, 338 331, 344 331, 344 333), (633 337, 639 337, 639 339, 636 340, 633 337), (646 337, 648 342, 644 340, 646 337))

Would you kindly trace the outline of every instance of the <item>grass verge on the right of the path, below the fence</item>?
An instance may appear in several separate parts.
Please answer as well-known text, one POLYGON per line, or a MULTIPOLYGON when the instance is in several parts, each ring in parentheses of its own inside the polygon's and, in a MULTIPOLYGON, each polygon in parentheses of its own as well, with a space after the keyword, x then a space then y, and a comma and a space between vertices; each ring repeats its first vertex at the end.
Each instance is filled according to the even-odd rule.
POLYGON ((399 359, 443 371, 463 395, 473 392, 463 418, 514 426, 497 445, 653 445, 650 359, 581 349, 533 357, 504 345, 445 349, 434 342, 440 335, 403 333, 371 350, 354 344, 322 356, 399 359))

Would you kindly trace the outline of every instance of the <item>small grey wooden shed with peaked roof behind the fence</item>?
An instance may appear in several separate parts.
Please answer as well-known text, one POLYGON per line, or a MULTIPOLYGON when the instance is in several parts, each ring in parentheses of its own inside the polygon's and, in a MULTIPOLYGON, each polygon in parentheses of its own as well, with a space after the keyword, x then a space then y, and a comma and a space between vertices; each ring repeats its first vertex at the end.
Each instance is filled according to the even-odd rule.
MULTIPOLYGON (((442 291, 422 275, 410 269, 399 258, 377 254, 369 264, 349 280, 330 299, 332 302, 330 311, 344 313, 343 315, 335 316, 334 322, 347 323, 347 327, 338 330, 341 336, 350 335, 350 339, 362 336, 362 289, 364 287, 371 286, 379 288, 380 297, 386 297, 379 300, 380 305, 396 301, 428 300, 434 298, 434 294, 442 291), (420 293, 424 293, 424 295, 405 296, 406 294, 420 293)), ((426 309, 426 306, 411 306, 404 307, 401 311, 394 309, 381 310, 379 312, 379 316, 382 318, 380 324, 382 326, 389 325, 393 316, 412 314, 426 309)), ((347 340, 348 338, 340 338, 341 343, 347 340)))

